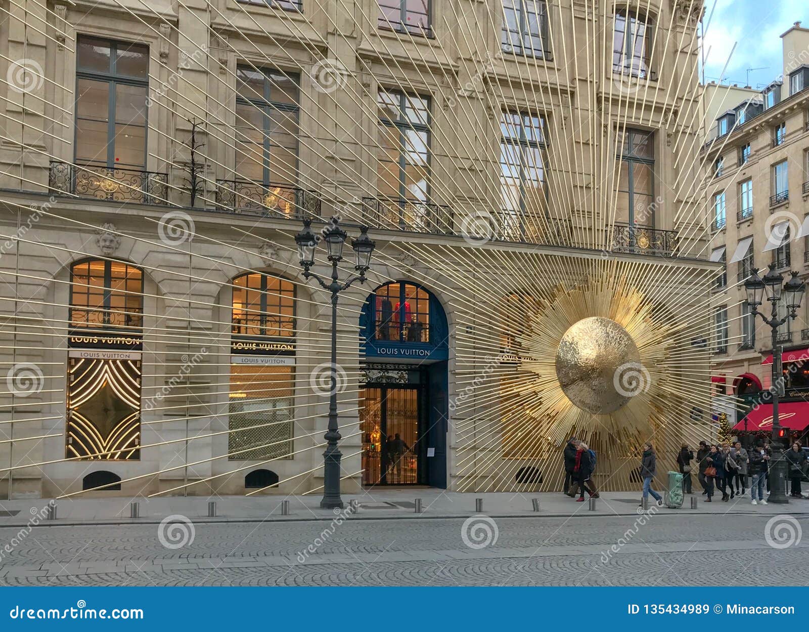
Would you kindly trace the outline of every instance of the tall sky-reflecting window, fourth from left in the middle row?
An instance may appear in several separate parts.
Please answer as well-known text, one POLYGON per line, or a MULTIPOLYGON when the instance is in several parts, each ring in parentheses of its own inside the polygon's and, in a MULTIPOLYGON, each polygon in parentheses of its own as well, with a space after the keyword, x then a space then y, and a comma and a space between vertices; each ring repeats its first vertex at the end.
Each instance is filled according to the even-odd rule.
POLYGON ((544 215, 544 118, 524 112, 500 115, 502 233, 524 235, 527 217, 544 215))

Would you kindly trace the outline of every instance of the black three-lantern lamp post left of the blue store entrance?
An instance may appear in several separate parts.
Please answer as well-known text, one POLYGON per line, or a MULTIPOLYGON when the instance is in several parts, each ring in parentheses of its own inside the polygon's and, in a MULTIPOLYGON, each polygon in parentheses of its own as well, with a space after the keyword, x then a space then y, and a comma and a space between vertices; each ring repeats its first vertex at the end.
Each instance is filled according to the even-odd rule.
POLYGON ((317 274, 310 271, 315 265, 315 251, 320 237, 311 230, 311 219, 303 220, 303 230, 295 235, 295 244, 298 245, 298 255, 303 268, 305 278, 314 277, 324 290, 332 293, 332 366, 331 366, 331 388, 328 400, 328 429, 324 435, 327 441, 326 452, 323 453, 323 499, 320 507, 333 509, 343 507, 340 498, 340 460, 342 452, 337 447, 337 441, 341 438, 337 424, 337 295, 348 288, 355 281, 365 282, 365 273, 371 267, 371 254, 374 252, 375 243, 368 237, 368 227, 360 227, 360 235, 353 240, 351 247, 354 248, 355 265, 357 270, 355 276, 348 278, 345 282, 337 282, 337 264, 343 258, 343 245, 348 235, 337 223, 337 218, 324 228, 322 240, 326 242, 326 252, 328 261, 332 262, 331 282, 324 281, 317 274))

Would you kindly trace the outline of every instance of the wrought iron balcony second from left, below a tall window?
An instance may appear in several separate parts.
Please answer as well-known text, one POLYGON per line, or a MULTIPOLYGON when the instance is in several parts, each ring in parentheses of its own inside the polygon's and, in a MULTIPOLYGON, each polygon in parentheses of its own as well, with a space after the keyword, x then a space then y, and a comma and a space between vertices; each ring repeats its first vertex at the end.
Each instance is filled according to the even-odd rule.
POLYGON ((216 210, 266 217, 319 218, 320 197, 290 185, 264 185, 252 180, 217 180, 216 210))

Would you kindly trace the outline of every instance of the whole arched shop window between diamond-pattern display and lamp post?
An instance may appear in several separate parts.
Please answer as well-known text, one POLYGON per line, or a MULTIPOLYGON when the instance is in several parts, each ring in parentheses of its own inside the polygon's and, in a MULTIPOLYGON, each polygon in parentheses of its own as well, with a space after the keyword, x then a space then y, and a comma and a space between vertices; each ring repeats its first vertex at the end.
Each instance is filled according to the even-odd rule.
POLYGON ((291 458, 294 419, 294 285, 267 274, 233 280, 231 460, 291 458))

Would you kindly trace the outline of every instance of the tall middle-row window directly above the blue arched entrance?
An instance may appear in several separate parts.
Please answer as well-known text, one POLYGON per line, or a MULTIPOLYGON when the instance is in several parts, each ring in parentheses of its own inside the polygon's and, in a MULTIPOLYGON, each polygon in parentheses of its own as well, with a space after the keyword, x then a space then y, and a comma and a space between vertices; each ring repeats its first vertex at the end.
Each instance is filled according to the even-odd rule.
POLYGON ((430 196, 430 99, 379 90, 378 189, 393 200, 430 196))

